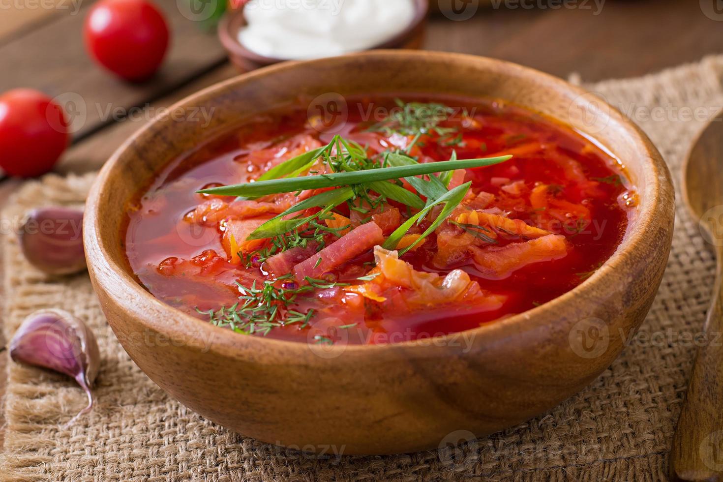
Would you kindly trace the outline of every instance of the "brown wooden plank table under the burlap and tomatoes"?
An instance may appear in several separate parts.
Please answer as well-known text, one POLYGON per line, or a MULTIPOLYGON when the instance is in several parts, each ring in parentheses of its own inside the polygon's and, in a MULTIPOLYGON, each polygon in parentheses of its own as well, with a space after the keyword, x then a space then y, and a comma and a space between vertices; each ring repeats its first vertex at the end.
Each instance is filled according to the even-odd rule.
MULTIPOLYGON (((236 74, 213 33, 184 17, 176 1, 156 1, 174 35, 163 68, 142 85, 119 82, 87 58, 81 29, 91 1, 43 1, 54 9, 38 8, 36 0, 0 4, 0 92, 34 87, 85 104, 85 115, 73 119, 74 145, 57 171, 99 168, 145 122, 114 112, 168 106, 236 74)), ((578 72, 588 81, 638 76, 723 53, 723 12, 713 9, 716 0, 710 0, 707 15, 694 0, 597 1, 602 9, 593 0, 561 6, 555 0, 493 0, 509 8, 480 7, 463 21, 433 17, 425 48, 497 57, 560 77, 578 72), (528 8, 533 4, 542 8, 528 8)), ((0 207, 21 184, 0 181, 0 207)), ((7 351, 0 355, 2 395, 7 351)))

